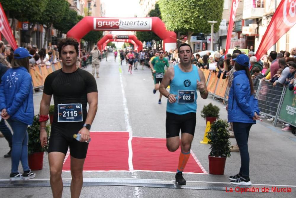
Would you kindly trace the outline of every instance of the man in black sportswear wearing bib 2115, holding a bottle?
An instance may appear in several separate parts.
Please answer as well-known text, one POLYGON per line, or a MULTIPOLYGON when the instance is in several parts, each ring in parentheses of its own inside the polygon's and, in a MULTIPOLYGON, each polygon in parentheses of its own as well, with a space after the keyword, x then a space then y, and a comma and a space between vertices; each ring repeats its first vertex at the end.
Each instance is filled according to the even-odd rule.
POLYGON ((83 184, 83 163, 90 138, 90 127, 98 105, 96 80, 88 71, 76 67, 78 42, 73 38, 59 41, 63 67, 49 74, 44 82, 40 104, 40 142, 47 144, 44 117, 48 115, 50 100, 54 95, 54 121, 49 139, 48 160, 50 185, 53 197, 62 197, 62 167, 70 147, 71 197, 79 197, 83 184), (89 112, 86 111, 89 103, 89 112), (81 134, 81 140, 73 138, 81 134))

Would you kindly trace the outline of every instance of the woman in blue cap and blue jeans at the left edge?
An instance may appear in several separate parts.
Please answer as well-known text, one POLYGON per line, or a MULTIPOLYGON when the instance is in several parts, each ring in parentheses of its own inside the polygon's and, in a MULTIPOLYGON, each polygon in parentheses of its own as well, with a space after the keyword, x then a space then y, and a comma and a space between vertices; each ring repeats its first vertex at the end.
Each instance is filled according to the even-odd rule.
POLYGON ((14 52, 12 68, 1 78, 0 110, 13 130, 10 180, 28 180, 36 175, 28 165, 28 125, 34 118, 32 78, 29 73, 28 50, 19 47, 14 52), (22 163, 24 173, 18 172, 22 163))

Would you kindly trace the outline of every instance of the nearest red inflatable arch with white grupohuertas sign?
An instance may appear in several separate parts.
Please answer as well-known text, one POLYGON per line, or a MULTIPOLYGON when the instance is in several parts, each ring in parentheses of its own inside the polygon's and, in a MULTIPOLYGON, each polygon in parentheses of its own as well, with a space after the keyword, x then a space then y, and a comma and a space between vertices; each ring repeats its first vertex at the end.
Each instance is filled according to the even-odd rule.
POLYGON ((163 40, 163 48, 166 51, 175 49, 177 35, 168 31, 165 24, 158 17, 147 18, 106 18, 86 16, 79 21, 67 33, 67 37, 73 37, 80 41, 89 31, 153 31, 163 40))

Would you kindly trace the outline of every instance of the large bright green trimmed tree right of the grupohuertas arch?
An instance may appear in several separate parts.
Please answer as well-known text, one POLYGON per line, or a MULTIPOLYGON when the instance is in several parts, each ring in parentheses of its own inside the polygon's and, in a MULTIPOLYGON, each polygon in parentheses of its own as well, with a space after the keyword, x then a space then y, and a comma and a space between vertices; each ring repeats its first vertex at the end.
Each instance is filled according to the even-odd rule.
MULTIPOLYGON (((210 33, 208 21, 222 19, 223 1, 221 0, 159 0, 161 17, 170 31, 185 33, 190 43, 193 33, 210 33)), ((214 32, 220 23, 214 24, 214 32)))

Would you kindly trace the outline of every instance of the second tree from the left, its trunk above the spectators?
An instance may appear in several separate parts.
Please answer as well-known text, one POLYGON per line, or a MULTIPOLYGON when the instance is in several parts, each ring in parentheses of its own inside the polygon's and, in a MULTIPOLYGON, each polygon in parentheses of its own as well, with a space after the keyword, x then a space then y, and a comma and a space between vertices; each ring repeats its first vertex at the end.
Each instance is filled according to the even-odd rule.
POLYGON ((41 20, 39 21, 45 28, 43 47, 46 46, 46 40, 49 37, 49 28, 53 23, 59 23, 62 21, 67 9, 69 9, 69 6, 70 4, 67 1, 50 0, 47 2, 45 10, 42 13, 41 20))

